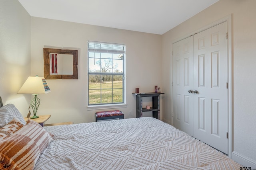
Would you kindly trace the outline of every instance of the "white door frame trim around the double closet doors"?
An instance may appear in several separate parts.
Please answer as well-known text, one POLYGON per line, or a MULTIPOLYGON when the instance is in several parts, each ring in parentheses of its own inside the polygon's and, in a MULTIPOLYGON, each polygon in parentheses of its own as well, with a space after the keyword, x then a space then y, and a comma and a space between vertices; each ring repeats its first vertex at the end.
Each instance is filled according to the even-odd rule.
MULTIPOLYGON (((211 27, 214 27, 220 23, 223 23, 223 22, 227 22, 227 57, 228 57, 228 65, 227 65, 227 68, 228 68, 228 156, 230 158, 232 158, 232 150, 233 150, 233 72, 232 72, 232 14, 224 17, 224 18, 221 18, 220 20, 217 20, 213 23, 210 23, 208 25, 206 25, 205 27, 202 27, 201 29, 198 29, 197 31, 194 31, 192 33, 190 33, 189 35, 187 36, 184 36, 180 39, 177 39, 176 41, 173 41, 172 44, 182 40, 182 39, 185 39, 187 37, 190 37, 196 33, 200 33, 206 29, 209 29, 211 27)), ((171 47, 172 48, 172 47, 171 47)), ((173 62, 172 62, 173 64, 173 62)), ((172 65, 172 68, 173 68, 173 65, 172 65)), ((171 74, 172 76, 172 74, 171 74)), ((172 77, 172 80, 173 80, 173 77, 172 77)), ((172 91, 172 86, 171 86, 171 94, 173 93, 172 91)), ((172 96, 172 95, 171 95, 172 96)), ((171 106, 172 106, 172 125, 173 125, 173 117, 174 117, 174 113, 173 113, 173 105, 172 105, 172 100, 171 100, 171 106)))

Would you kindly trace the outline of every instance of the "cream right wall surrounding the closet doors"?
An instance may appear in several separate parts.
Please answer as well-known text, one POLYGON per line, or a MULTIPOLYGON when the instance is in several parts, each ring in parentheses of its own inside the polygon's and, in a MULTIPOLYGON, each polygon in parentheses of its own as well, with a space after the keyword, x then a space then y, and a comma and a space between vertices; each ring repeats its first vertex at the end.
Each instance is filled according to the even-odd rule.
MULTIPOLYGON (((196 16, 162 35, 163 85, 170 96, 172 82, 172 43, 190 33, 232 14, 233 78, 233 158, 256 168, 256 1, 220 0, 196 16), (244 157, 243 160, 240 156, 244 157)), ((231 35, 230 35, 231 36, 231 35)), ((163 99, 163 120, 171 122, 171 99, 163 99)))

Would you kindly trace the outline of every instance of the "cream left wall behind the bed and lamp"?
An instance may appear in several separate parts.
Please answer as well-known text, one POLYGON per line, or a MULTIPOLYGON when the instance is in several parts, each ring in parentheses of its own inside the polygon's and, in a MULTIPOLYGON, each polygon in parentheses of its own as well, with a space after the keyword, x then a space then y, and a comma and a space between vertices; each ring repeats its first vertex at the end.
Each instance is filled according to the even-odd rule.
POLYGON ((30 76, 30 15, 17 0, 0 1, 0 96, 26 115, 30 96, 17 94, 30 76))

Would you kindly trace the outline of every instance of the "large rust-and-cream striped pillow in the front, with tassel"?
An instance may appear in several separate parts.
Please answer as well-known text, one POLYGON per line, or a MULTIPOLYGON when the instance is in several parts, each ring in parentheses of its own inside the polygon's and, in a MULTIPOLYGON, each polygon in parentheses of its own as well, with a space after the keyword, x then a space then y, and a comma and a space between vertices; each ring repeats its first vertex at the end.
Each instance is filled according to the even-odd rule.
POLYGON ((0 169, 33 170, 52 137, 35 121, 28 120, 20 130, 0 141, 0 169))

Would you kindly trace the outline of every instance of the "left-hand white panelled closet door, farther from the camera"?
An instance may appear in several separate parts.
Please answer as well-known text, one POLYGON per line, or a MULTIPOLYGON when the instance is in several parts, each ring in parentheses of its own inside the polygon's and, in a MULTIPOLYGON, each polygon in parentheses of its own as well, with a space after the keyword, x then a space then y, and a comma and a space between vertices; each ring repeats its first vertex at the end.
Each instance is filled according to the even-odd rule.
POLYGON ((193 117, 193 36, 172 45, 173 124, 194 136, 193 117))

